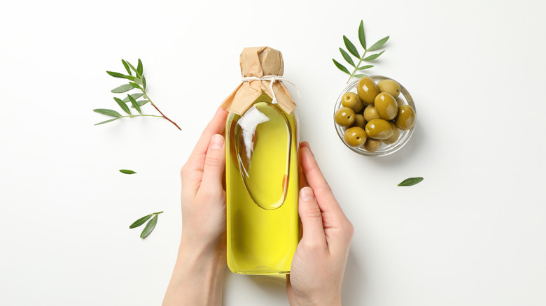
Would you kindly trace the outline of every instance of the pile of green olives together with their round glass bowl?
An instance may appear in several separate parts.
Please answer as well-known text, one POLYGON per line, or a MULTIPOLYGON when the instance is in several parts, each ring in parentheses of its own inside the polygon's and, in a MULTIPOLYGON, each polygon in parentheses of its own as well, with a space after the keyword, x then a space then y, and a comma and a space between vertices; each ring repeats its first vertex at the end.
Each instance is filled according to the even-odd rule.
POLYGON ((407 89, 381 75, 351 82, 339 95, 334 112, 339 139, 353 152, 365 156, 386 156, 400 150, 413 135, 417 117, 407 89), (353 102, 356 101, 355 94, 362 102, 361 110, 360 104, 353 102), (360 130, 354 133, 355 127, 364 130, 364 141, 360 130), (349 130, 350 135, 346 134, 349 130), (358 141, 355 141, 357 135, 358 141))

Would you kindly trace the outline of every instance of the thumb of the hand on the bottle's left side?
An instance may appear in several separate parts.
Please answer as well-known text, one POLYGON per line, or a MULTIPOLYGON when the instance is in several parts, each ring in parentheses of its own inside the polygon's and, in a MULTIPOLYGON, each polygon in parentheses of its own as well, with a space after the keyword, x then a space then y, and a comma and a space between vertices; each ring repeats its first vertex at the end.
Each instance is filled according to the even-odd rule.
POLYGON ((207 157, 205 158, 201 187, 209 190, 222 190, 223 173, 225 169, 224 138, 213 135, 207 157))

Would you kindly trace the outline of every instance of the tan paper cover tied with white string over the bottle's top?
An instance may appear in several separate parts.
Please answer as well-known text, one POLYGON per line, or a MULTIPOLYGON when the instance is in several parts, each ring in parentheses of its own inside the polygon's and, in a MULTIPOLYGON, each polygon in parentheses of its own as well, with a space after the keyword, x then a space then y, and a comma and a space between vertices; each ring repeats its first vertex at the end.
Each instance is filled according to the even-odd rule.
POLYGON ((283 55, 279 50, 269 47, 244 48, 240 64, 244 81, 222 102, 222 108, 243 115, 263 91, 287 114, 295 110, 294 99, 280 80, 284 64, 283 55))

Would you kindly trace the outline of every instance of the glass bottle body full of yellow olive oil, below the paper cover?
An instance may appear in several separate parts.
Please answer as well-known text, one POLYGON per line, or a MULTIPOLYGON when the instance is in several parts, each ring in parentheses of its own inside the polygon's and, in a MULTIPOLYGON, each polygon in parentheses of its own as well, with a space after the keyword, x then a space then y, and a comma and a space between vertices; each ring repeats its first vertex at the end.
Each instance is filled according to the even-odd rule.
POLYGON ((241 274, 290 272, 300 239, 298 131, 267 94, 226 122, 228 266, 241 274))

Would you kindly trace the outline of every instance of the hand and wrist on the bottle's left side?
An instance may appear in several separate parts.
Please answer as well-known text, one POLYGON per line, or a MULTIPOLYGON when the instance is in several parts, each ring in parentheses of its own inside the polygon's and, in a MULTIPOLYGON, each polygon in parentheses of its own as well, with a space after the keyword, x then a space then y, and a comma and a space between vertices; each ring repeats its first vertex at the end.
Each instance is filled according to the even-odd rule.
POLYGON ((182 237, 163 305, 221 305, 225 271, 225 149, 228 112, 218 108, 182 167, 182 237))

